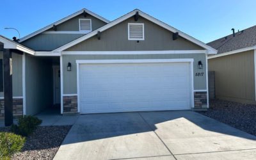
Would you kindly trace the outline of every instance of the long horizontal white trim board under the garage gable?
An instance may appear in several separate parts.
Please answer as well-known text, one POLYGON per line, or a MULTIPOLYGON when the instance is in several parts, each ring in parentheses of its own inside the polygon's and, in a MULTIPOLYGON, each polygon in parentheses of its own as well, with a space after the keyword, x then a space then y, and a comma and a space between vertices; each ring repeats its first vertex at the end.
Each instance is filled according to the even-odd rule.
POLYGON ((207 54, 207 50, 173 50, 173 51, 62 51, 61 54, 70 55, 111 55, 111 54, 207 54))

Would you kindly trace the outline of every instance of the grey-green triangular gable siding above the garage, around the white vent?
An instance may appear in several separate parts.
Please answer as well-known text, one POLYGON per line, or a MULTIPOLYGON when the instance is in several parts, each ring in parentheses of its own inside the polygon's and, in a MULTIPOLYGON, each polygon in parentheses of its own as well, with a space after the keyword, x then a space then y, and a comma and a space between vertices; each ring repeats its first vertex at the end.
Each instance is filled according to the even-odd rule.
POLYGON ((128 40, 128 23, 134 23, 131 17, 112 28, 103 31, 100 40, 93 36, 67 51, 164 51, 164 50, 198 50, 202 47, 179 37, 172 40, 172 33, 142 17, 136 23, 144 23, 145 40, 128 40))

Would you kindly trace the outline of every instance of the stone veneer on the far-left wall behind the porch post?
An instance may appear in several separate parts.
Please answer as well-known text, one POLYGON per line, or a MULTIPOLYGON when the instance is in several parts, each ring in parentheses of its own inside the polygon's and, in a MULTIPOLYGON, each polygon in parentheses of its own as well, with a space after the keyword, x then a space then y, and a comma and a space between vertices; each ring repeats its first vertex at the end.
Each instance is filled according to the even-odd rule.
MULTIPOLYGON (((23 115, 23 99, 13 98, 13 116, 18 117, 23 115)), ((4 99, 0 99, 0 119, 4 118, 4 99)))

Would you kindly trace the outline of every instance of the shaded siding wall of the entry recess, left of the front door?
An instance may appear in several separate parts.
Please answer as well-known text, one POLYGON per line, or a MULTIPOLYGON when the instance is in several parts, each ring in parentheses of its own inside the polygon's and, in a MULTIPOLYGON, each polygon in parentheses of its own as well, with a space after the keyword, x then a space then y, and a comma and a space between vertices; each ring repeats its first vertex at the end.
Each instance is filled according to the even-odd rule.
POLYGON ((51 61, 26 54, 26 115, 52 106, 52 79, 51 61))

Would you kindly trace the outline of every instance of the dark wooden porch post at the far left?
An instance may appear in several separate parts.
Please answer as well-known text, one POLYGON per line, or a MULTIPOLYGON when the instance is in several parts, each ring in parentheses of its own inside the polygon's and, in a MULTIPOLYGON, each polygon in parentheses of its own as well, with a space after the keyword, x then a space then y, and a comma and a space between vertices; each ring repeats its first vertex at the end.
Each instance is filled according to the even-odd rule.
POLYGON ((10 49, 3 51, 4 67, 4 125, 13 124, 12 110, 12 52, 10 49))

